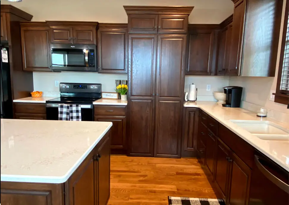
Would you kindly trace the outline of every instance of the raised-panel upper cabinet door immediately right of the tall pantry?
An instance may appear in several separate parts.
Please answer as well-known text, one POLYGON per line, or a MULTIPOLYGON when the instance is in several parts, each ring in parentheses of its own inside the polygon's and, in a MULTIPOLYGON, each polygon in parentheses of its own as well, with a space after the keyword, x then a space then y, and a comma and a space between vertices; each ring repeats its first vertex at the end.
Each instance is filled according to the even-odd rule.
POLYGON ((214 31, 196 30, 190 34, 187 74, 211 75, 214 31))

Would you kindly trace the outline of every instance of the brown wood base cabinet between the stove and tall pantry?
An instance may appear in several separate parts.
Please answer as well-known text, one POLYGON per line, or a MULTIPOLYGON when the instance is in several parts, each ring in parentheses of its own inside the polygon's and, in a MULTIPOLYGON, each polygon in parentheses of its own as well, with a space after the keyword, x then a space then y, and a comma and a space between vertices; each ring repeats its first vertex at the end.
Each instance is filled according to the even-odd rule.
POLYGON ((112 122, 112 154, 126 154, 126 109, 126 106, 120 105, 94 105, 94 121, 112 122))

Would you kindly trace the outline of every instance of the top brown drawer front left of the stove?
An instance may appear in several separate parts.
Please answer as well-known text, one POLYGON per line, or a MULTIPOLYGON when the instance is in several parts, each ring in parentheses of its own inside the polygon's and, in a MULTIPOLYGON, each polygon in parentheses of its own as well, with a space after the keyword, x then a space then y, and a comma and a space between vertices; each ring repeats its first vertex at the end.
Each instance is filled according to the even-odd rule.
POLYGON ((15 103, 15 113, 46 114, 45 104, 42 103, 15 103))

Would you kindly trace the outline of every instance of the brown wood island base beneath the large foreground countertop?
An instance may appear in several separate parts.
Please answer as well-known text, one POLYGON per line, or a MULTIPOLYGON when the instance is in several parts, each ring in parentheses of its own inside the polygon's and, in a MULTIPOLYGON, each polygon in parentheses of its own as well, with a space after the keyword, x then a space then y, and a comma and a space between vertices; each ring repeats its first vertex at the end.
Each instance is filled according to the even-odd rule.
POLYGON ((110 138, 106 133, 64 183, 1 182, 1 203, 9 205, 106 205, 110 189, 110 138))

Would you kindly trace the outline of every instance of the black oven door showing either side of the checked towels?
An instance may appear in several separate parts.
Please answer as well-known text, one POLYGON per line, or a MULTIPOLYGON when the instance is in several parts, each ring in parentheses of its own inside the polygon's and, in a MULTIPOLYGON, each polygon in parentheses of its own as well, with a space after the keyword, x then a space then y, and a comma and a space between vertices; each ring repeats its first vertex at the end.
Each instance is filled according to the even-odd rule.
MULTIPOLYGON (((53 103, 46 103, 46 119, 58 120, 58 105, 53 103)), ((93 105, 81 106, 81 121, 93 121, 93 105)))

